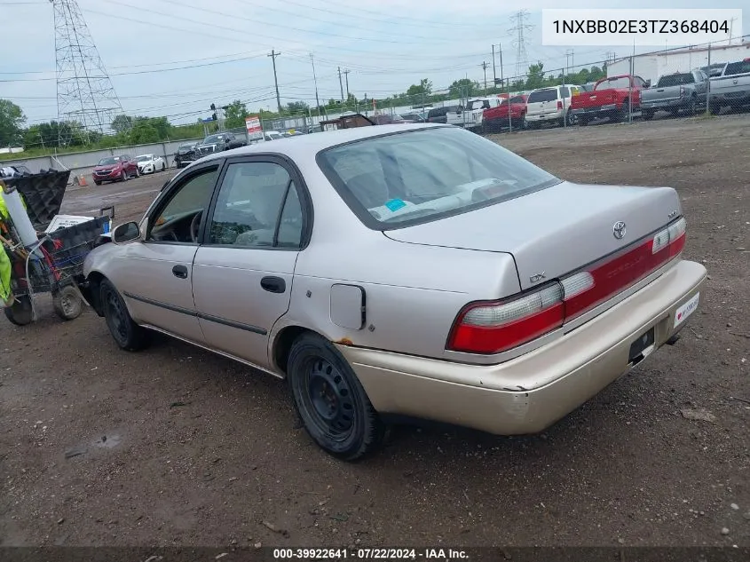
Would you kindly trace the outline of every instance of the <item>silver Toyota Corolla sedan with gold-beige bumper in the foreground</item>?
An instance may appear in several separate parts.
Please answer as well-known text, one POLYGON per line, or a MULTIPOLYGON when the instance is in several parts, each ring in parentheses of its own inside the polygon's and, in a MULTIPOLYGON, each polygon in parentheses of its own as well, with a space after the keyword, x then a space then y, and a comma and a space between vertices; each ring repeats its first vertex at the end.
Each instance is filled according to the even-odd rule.
POLYGON ((113 238, 84 290, 117 344, 286 377, 349 460, 392 415, 543 430, 674 343, 707 277, 674 189, 573 184, 449 125, 212 154, 113 238))

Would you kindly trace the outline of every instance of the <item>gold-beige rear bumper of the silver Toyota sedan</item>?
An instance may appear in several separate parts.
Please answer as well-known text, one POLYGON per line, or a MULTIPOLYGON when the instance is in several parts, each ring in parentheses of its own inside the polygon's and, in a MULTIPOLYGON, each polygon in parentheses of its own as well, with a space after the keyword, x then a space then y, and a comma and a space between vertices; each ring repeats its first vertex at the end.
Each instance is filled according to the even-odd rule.
POLYGON ((653 328, 667 343, 678 308, 699 294, 703 265, 680 261, 554 342, 500 365, 467 365, 337 344, 375 409, 501 435, 542 431, 635 367, 631 345, 653 328))

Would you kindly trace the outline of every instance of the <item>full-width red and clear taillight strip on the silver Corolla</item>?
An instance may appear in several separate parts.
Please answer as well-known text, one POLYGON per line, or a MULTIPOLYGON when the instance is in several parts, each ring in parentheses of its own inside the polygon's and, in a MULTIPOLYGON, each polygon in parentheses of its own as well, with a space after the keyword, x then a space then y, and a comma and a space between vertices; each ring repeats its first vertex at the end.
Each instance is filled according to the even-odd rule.
POLYGON ((500 353, 560 328, 678 256, 685 246, 685 229, 680 218, 635 248, 532 293, 471 303, 456 318, 447 348, 500 353))

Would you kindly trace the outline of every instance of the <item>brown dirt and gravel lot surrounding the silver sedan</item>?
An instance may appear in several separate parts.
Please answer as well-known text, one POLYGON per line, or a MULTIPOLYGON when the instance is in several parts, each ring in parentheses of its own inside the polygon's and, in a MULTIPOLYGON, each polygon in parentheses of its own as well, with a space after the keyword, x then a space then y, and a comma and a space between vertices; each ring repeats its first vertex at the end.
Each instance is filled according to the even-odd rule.
MULTIPOLYGON (((399 428, 346 464, 284 383, 167 339, 121 352, 45 304, 0 322, 0 543, 750 545, 750 115, 495 139, 561 178, 679 190, 711 274, 679 344, 543 435, 399 428)), ((64 211, 137 218, 166 175, 64 211)))

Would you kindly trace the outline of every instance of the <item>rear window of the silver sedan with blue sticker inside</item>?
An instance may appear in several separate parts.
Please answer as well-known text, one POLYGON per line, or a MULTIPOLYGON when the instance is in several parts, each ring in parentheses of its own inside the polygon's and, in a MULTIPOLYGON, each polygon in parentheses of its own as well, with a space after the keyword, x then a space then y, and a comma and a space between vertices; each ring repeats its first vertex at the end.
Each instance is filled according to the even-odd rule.
POLYGON ((551 186, 559 180, 460 128, 409 131, 328 148, 326 174, 362 222, 413 225, 551 186))

